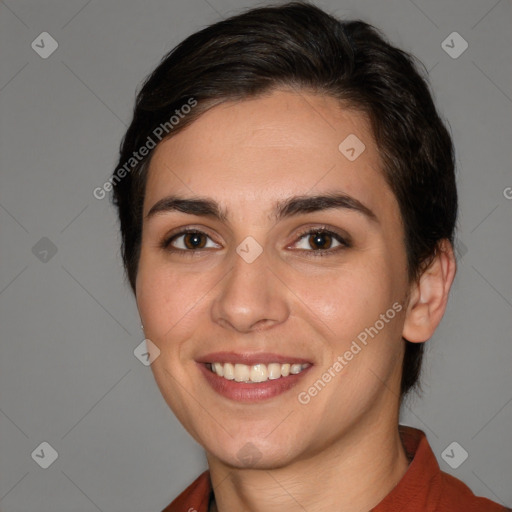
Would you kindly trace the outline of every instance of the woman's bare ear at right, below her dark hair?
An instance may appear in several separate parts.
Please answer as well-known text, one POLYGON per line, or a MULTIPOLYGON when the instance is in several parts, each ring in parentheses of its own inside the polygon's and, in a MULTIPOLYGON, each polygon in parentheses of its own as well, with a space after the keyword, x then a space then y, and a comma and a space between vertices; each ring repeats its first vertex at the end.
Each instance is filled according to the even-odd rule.
POLYGON ((411 285, 402 336, 412 343, 432 337, 443 318, 457 264, 452 244, 438 243, 434 259, 411 285))

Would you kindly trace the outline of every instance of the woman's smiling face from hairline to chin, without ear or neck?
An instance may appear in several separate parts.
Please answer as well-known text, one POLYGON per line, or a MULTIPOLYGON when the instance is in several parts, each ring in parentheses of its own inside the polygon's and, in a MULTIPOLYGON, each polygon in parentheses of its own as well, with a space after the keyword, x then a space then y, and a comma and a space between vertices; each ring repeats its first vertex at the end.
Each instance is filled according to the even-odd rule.
POLYGON ((397 421, 408 282, 381 169, 362 114, 284 90, 155 149, 137 304, 156 382, 209 457, 282 466, 397 421))

